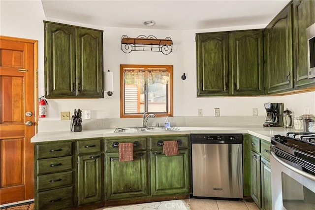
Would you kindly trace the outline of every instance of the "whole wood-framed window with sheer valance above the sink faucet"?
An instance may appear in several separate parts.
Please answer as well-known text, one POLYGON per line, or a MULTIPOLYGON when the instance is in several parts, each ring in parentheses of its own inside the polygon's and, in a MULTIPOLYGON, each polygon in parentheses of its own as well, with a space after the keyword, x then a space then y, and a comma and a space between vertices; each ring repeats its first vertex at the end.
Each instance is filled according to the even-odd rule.
POLYGON ((120 65, 121 118, 173 116, 173 66, 120 65))

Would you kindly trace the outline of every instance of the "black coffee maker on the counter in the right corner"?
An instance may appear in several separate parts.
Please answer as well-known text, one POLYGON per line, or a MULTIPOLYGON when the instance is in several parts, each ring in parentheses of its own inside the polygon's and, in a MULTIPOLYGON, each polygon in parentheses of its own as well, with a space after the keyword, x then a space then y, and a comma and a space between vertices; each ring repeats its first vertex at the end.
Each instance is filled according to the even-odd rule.
POLYGON ((283 103, 264 103, 266 109, 266 122, 263 124, 264 127, 280 127, 284 126, 283 103))

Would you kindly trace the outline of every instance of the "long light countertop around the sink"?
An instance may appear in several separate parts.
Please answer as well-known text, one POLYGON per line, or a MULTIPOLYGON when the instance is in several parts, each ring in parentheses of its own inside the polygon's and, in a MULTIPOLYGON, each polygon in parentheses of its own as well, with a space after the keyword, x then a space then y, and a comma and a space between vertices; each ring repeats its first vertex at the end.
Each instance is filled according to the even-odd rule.
POLYGON ((175 126, 176 131, 146 131, 114 133, 115 129, 86 130, 81 132, 60 131, 40 132, 32 137, 31 142, 44 142, 54 140, 78 140, 97 137, 123 137, 123 136, 153 136, 153 135, 178 135, 178 134, 250 134, 260 139, 270 141, 275 135, 285 135, 287 132, 296 131, 284 127, 262 126, 175 126))

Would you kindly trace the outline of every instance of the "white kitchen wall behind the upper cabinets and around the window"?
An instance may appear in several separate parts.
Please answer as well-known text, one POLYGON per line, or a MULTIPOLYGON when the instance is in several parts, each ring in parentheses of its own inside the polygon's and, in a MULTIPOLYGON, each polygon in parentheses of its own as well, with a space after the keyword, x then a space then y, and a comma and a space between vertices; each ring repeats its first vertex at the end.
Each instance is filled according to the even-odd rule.
POLYGON ((214 108, 221 109, 221 116, 251 116, 252 108, 258 108, 258 115, 264 115, 263 103, 281 102, 296 115, 303 114, 304 107, 315 114, 315 92, 289 96, 265 97, 196 97, 196 47, 195 33, 264 28, 265 25, 237 26, 199 31, 169 31, 129 28, 104 28, 63 20, 47 19, 40 0, 0 1, 0 35, 38 40, 38 94, 44 95, 44 30, 43 20, 104 30, 104 71, 114 72, 114 94, 95 100, 48 100, 46 119, 59 120, 60 111, 73 111, 74 108, 93 110, 93 118, 119 118, 119 65, 120 64, 167 64, 174 67, 174 116, 197 116, 197 109, 203 109, 204 116, 213 116, 214 108), (127 35, 155 35, 157 38, 171 37, 173 52, 163 55, 160 52, 131 52, 121 50, 121 37, 127 35), (181 75, 186 73, 187 79, 181 75))

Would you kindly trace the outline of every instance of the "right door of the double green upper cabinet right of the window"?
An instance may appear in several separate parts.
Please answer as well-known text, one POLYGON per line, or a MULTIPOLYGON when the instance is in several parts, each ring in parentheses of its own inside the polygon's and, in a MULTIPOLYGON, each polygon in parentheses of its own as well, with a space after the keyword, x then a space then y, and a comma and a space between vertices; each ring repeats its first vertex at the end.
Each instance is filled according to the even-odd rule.
POLYGON ((232 95, 263 95, 263 30, 230 33, 232 95))

